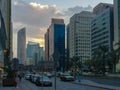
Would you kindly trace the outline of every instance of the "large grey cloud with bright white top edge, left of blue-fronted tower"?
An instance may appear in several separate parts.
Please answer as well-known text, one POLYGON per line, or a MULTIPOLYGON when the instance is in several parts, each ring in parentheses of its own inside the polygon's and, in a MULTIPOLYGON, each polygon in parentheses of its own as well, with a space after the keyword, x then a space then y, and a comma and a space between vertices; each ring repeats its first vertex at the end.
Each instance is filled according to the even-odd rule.
POLYGON ((14 33, 20 28, 26 27, 27 36, 33 38, 44 37, 51 18, 64 17, 56 5, 25 3, 22 0, 13 0, 12 15, 14 33))

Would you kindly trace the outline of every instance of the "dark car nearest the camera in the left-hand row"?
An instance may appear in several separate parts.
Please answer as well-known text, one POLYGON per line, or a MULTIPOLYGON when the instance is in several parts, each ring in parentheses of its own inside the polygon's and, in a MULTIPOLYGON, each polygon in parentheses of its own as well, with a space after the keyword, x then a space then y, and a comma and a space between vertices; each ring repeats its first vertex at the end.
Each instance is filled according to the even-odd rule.
POLYGON ((50 78, 48 78, 46 76, 41 76, 36 80, 35 84, 37 86, 42 86, 42 85, 43 86, 52 86, 52 81, 50 80, 50 78))

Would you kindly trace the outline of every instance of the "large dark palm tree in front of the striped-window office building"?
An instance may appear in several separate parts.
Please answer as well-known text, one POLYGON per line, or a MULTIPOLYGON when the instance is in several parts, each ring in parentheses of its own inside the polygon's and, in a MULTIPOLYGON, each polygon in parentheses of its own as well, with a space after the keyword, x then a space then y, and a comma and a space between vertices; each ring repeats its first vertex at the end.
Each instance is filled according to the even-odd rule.
POLYGON ((107 65, 107 56, 108 56, 109 48, 104 45, 100 45, 96 51, 94 52, 93 59, 95 60, 94 67, 96 68, 96 72, 101 72, 103 75, 105 75, 106 71, 106 65, 107 65), (99 67, 98 67, 99 66, 99 67))

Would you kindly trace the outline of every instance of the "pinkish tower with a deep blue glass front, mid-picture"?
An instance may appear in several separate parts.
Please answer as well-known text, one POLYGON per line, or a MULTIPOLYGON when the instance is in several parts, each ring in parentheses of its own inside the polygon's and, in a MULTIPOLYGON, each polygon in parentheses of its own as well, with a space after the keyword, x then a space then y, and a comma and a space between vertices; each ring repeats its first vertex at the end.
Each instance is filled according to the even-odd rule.
POLYGON ((57 70, 64 70, 65 62, 65 24, 63 19, 52 19, 49 27, 49 61, 56 60, 57 70), (56 54, 57 52, 57 54, 56 54), (54 55, 56 59, 54 58, 54 55), (57 55, 57 56, 56 56, 57 55))

